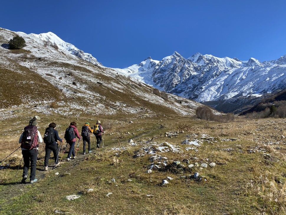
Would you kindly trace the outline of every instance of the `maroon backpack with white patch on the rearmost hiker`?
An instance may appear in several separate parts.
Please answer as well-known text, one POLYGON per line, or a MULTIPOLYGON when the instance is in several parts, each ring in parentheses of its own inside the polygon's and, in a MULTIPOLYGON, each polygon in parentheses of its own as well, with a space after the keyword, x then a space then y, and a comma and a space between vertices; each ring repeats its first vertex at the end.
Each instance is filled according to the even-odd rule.
POLYGON ((23 149, 37 149, 38 146, 38 129, 36 126, 26 126, 24 128, 21 148, 23 149))

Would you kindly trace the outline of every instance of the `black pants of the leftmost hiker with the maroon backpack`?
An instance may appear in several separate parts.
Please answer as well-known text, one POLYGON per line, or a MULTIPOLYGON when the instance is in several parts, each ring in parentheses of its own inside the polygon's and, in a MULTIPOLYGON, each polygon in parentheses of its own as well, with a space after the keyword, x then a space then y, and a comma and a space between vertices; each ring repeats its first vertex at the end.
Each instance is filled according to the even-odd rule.
POLYGON ((36 163, 38 157, 38 150, 22 150, 24 167, 23 167, 23 175, 28 175, 28 170, 31 162, 31 173, 30 173, 30 181, 34 180, 36 177, 36 163))

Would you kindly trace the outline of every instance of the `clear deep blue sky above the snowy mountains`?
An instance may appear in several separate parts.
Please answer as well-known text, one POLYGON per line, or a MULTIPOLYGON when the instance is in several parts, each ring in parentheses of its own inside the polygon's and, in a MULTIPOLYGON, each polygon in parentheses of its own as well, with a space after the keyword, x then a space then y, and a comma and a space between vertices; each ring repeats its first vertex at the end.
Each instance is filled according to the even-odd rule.
POLYGON ((259 61, 286 54, 286 1, 1 1, 0 27, 53 32, 104 66, 125 68, 174 51, 259 61))

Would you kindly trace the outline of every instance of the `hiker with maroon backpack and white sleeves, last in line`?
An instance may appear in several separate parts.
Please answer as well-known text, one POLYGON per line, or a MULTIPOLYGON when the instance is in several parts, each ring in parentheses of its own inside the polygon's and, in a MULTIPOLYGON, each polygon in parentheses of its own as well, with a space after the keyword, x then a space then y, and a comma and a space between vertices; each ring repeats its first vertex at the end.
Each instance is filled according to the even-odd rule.
POLYGON ((24 132, 19 138, 21 143, 22 155, 24 160, 23 175, 21 183, 25 183, 27 180, 29 165, 31 162, 30 183, 37 181, 36 177, 36 164, 38 157, 39 142, 42 143, 43 139, 37 128, 37 119, 32 118, 29 121, 29 125, 24 128, 24 132))

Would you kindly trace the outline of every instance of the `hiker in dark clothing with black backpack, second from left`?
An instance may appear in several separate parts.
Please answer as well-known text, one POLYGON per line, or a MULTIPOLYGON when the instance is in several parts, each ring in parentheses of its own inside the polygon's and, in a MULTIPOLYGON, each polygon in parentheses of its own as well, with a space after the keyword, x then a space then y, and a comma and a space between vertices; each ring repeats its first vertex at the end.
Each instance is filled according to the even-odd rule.
POLYGON ((44 134, 44 143, 45 145, 45 161, 44 161, 44 170, 49 170, 48 163, 49 159, 51 157, 51 152, 54 154, 55 158, 55 167, 60 165, 60 162, 58 162, 58 154, 59 154, 59 146, 57 144, 57 141, 63 142, 63 139, 60 139, 59 133, 55 129, 57 126, 56 123, 50 123, 49 127, 46 128, 45 134, 44 134))

